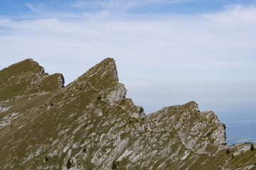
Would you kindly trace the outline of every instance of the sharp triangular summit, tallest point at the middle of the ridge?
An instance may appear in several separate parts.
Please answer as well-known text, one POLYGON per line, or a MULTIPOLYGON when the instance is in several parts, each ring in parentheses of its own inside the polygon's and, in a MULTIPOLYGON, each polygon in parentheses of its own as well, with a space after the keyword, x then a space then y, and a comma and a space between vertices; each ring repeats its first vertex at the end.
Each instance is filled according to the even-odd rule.
POLYGON ((107 58, 89 69, 70 84, 66 91, 80 93, 82 89, 98 91, 97 97, 110 103, 124 99, 127 93, 124 84, 119 83, 114 59, 107 58))

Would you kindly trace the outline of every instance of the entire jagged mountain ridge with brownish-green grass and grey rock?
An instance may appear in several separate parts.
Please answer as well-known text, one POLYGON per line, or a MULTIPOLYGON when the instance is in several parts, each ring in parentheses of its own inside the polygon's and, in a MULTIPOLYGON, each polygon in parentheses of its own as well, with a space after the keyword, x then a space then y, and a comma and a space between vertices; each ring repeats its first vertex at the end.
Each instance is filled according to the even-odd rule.
POLYGON ((225 125, 194 101, 145 115, 113 59, 66 87, 33 60, 0 79, 1 169, 256 168, 250 144, 227 146, 225 125))

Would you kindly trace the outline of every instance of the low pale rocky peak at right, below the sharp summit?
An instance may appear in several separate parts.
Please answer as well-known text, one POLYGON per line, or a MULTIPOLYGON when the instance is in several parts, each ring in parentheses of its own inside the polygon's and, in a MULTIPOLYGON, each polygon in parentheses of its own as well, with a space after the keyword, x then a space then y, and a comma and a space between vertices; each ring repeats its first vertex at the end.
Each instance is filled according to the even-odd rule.
POLYGON ((226 145, 225 129, 215 113, 200 112, 194 101, 162 108, 151 113, 147 120, 151 130, 176 134, 187 149, 198 154, 213 155, 226 145))

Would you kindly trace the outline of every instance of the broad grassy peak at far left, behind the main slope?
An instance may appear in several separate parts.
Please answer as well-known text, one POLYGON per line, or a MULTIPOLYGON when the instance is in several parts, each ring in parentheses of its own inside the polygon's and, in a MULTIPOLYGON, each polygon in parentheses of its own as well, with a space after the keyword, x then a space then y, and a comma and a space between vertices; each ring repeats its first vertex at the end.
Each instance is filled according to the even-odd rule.
POLYGON ((64 86, 62 74, 49 75, 38 62, 23 60, 0 71, 0 113, 20 101, 64 86))

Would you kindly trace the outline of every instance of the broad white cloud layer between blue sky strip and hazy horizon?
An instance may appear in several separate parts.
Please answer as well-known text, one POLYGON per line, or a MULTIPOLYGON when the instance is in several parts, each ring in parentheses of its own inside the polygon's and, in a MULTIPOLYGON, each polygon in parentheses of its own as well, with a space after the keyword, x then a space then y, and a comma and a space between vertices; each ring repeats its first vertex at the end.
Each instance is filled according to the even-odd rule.
POLYGON ((255 101, 256 22, 250 17, 255 12, 252 6, 233 6, 204 16, 154 19, 109 11, 4 18, 0 67, 32 57, 46 72, 61 72, 70 82, 114 57, 128 96, 147 112, 191 100, 255 101))

